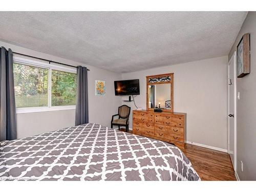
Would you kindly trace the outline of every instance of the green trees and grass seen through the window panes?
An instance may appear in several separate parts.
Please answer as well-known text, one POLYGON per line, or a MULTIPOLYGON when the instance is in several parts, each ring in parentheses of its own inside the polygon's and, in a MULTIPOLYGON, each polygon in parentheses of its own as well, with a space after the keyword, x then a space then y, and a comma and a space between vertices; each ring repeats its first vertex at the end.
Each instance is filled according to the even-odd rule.
POLYGON ((17 108, 75 105, 76 74, 13 63, 17 108), (51 97, 48 93, 51 79, 51 97))

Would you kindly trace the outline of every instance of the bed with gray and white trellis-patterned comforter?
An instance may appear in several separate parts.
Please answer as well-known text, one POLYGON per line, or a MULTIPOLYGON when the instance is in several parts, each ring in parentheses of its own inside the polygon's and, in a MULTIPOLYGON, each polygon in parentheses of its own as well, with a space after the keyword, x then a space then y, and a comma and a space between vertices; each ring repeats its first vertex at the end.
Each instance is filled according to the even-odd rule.
POLYGON ((200 180, 178 147, 95 123, 1 144, 0 180, 200 180))

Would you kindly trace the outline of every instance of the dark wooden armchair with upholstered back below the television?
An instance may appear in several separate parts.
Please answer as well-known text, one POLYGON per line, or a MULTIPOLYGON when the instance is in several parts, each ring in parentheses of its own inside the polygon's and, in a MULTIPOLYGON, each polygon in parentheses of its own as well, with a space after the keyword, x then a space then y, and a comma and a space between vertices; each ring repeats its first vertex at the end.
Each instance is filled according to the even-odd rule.
POLYGON ((118 125, 118 130, 120 130, 120 126, 125 126, 125 131, 129 131, 129 115, 131 112, 130 106, 122 105, 118 108, 118 114, 112 116, 111 120, 111 128, 113 125, 118 125), (115 116, 118 116, 118 119, 114 119, 115 116))

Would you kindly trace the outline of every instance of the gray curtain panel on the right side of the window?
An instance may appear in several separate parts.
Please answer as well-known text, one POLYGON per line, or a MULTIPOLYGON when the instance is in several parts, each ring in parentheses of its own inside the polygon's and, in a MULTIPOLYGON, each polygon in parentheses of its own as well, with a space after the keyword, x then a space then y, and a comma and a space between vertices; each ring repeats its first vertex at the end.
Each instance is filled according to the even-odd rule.
POLYGON ((77 68, 76 125, 88 123, 88 85, 87 68, 77 68))

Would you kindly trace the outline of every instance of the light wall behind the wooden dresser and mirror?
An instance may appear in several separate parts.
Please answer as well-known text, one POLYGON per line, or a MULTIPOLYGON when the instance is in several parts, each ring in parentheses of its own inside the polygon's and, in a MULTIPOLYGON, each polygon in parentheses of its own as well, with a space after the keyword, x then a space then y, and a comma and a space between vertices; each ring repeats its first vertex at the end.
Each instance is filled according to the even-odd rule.
MULTIPOLYGON (((180 63, 133 73, 139 79, 138 108, 146 109, 146 77, 174 72, 174 111, 187 113, 186 140, 227 149, 227 56, 180 63)), ((126 98, 123 98, 124 100, 126 98)), ((135 110, 133 102, 123 102, 135 110)), ((130 116, 132 129, 132 113, 130 116)))

